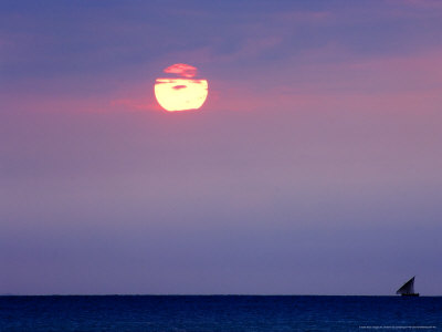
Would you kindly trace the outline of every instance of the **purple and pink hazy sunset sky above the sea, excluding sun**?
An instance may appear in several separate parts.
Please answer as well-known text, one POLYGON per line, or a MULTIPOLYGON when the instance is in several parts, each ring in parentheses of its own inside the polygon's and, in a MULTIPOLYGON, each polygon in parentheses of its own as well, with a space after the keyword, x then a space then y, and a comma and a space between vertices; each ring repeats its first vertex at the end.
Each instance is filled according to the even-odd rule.
POLYGON ((442 295, 442 2, 0 4, 0 293, 442 295), (186 63, 198 111, 154 95, 186 63))

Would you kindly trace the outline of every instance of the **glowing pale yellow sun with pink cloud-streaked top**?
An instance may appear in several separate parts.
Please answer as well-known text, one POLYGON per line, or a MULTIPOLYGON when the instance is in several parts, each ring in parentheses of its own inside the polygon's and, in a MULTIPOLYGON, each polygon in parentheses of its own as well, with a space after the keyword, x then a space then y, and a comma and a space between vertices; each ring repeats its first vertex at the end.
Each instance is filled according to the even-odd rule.
POLYGON ((159 77, 155 82, 155 96, 162 108, 168 112, 198 110, 209 94, 207 80, 192 79, 197 68, 177 63, 164 70, 177 77, 159 77))

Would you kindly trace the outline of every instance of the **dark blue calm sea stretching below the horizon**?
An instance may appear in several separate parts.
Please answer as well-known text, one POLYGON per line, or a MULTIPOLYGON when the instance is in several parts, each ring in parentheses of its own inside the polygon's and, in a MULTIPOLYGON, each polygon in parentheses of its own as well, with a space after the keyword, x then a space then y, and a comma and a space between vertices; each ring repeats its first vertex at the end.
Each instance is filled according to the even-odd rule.
POLYGON ((0 297, 0 331, 373 331, 380 326, 441 330, 442 298, 0 297))

